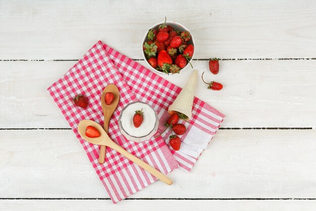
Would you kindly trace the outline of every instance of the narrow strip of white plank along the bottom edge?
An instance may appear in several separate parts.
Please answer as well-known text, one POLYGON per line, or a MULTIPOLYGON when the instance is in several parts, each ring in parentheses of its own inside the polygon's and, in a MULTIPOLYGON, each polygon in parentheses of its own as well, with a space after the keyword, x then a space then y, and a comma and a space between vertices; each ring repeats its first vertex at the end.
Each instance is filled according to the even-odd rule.
POLYGON ((315 200, 0 200, 6 210, 313 210, 315 200))

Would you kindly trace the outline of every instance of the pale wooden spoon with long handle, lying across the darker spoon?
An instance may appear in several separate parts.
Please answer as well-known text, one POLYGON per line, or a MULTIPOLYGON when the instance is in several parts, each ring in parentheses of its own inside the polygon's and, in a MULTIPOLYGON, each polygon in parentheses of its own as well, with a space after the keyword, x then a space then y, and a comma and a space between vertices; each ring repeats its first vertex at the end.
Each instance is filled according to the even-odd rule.
POLYGON ((155 168, 149 166, 147 163, 138 159, 137 157, 135 157, 134 155, 132 155, 131 153, 129 153, 128 151, 123 149, 121 146, 116 144, 114 141, 112 141, 111 138, 106 133, 106 131, 104 131, 103 128, 99 124, 97 124, 96 122, 94 122, 92 120, 82 120, 78 125, 78 131, 79 131, 79 134, 81 135, 81 137, 83 139, 85 139, 86 141, 93 143, 93 144, 109 146, 110 148, 120 152, 128 160, 134 162, 135 164, 137 164, 138 166, 140 166, 144 170, 148 171, 150 174, 152 174, 156 178, 160 179, 161 181, 163 181, 167 185, 172 184, 172 180, 169 179, 166 175, 164 175, 160 171, 156 170, 155 168), (100 132, 99 137, 89 138, 88 136, 86 136, 85 130, 86 130, 86 127, 89 125, 95 127, 100 132))

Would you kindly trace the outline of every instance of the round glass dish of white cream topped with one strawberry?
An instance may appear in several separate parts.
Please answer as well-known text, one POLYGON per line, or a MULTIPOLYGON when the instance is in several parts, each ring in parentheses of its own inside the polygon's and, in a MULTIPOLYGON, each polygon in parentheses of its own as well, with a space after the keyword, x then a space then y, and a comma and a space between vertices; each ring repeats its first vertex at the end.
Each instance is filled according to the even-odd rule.
POLYGON ((149 104, 136 101, 131 102, 122 110, 119 118, 121 133, 131 141, 141 142, 151 138, 158 130, 159 120, 156 112, 149 104), (136 128, 133 124, 135 111, 143 112, 143 122, 136 128))

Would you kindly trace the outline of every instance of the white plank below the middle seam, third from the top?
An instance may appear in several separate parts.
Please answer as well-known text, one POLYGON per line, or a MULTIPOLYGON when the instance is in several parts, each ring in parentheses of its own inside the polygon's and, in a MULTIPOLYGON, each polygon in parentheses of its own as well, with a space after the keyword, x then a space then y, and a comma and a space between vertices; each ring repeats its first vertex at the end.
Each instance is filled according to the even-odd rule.
MULTIPOLYGON (((131 198, 314 198, 316 130, 220 130, 192 172, 131 198)), ((70 130, 0 130, 0 197, 108 198, 70 130), (19 143, 19 144, 16 144, 19 143)))

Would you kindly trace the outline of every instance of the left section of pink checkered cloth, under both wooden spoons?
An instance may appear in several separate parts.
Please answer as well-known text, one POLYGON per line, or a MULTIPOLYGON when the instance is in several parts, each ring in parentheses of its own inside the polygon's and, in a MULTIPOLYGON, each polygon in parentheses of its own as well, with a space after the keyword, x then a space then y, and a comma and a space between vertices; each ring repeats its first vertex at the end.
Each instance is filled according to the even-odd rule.
POLYGON ((100 41, 47 90, 79 139, 113 203, 116 203, 152 184, 157 178, 109 147, 104 164, 99 164, 99 146, 84 141, 77 131, 78 123, 84 119, 91 119, 103 125, 100 96, 103 88, 112 83, 118 86, 121 96, 118 108, 110 121, 109 136, 123 148, 164 174, 176 169, 178 164, 162 137, 136 143, 128 141, 120 133, 119 114, 127 103, 136 101, 137 97, 120 75, 100 41), (86 109, 76 107, 72 102, 72 98, 81 93, 89 98, 86 109))

